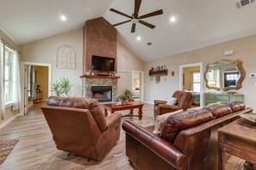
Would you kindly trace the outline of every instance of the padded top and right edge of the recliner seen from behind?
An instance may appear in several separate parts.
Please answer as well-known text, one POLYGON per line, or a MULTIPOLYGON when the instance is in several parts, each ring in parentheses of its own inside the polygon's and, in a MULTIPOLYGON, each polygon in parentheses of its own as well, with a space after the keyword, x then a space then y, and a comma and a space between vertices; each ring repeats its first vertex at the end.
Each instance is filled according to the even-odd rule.
POLYGON ((47 105, 89 109, 100 130, 105 131, 107 129, 103 106, 100 106, 96 99, 50 96, 47 100, 47 105))

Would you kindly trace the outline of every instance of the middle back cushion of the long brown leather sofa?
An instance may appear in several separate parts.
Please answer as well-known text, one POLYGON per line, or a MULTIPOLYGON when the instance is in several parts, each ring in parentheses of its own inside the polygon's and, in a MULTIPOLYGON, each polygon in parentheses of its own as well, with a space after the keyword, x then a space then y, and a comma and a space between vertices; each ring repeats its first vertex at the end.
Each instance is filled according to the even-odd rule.
POLYGON ((211 106, 205 106, 203 108, 208 110, 209 112, 211 112, 215 118, 222 117, 222 116, 232 112, 232 109, 225 104, 221 104, 221 105, 216 104, 216 105, 211 105, 211 106))

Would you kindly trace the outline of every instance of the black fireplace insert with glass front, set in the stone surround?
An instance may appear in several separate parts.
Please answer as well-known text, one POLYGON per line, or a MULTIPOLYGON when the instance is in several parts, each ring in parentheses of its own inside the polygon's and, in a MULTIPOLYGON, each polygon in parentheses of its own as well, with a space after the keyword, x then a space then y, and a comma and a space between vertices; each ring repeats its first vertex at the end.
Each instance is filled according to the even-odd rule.
POLYGON ((112 86, 92 86, 91 94, 99 102, 112 101, 112 86))

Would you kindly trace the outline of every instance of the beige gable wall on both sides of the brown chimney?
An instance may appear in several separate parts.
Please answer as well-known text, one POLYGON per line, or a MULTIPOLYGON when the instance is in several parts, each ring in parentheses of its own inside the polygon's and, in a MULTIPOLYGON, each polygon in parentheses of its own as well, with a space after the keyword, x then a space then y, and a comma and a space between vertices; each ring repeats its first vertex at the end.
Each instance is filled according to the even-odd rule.
MULTIPOLYGON (((83 74, 83 29, 78 29, 68 33, 62 33, 47 39, 41 39, 21 46, 22 61, 53 64, 53 82, 59 77, 66 76, 72 80, 74 85, 73 95, 82 95, 82 80, 79 78, 83 74), (56 50, 59 46, 72 46, 77 54, 76 70, 65 70, 56 68, 56 50)), ((125 88, 131 89, 131 70, 143 70, 143 63, 140 59, 123 46, 121 42, 117 43, 117 56, 126 55, 129 59, 128 73, 118 73, 121 76, 118 79, 118 95, 122 94, 125 88)))

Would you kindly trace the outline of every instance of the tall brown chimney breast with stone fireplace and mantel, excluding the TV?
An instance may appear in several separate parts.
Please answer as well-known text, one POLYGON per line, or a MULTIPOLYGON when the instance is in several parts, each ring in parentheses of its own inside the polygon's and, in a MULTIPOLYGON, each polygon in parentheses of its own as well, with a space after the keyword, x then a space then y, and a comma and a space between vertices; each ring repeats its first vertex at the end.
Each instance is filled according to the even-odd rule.
MULTIPOLYGON (((117 30, 103 17, 86 21, 84 24, 84 59, 82 95, 99 102, 113 101, 117 97, 117 79, 109 71, 92 70, 92 56, 115 58, 117 55, 117 30), (87 73, 90 70, 90 75, 87 73)), ((116 71, 115 62, 115 71, 116 71)))

